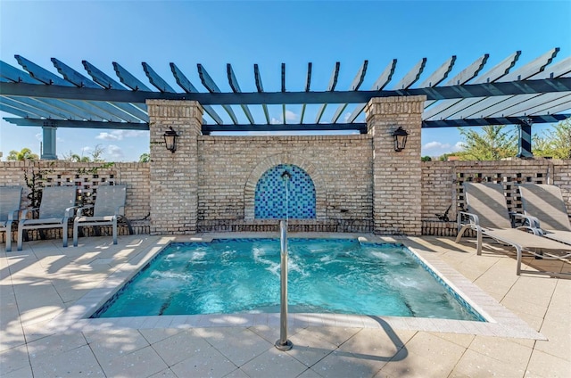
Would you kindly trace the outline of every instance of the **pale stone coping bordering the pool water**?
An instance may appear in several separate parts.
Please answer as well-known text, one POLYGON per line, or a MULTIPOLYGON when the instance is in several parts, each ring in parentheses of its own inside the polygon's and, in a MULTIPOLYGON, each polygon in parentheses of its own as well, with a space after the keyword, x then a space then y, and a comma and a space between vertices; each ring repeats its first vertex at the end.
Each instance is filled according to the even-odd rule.
MULTIPOLYGON (((98 332, 121 329, 153 328, 205 328, 205 327, 251 327, 280 325, 279 313, 240 313, 212 314, 193 316, 125 316, 90 319, 95 310, 111 298, 123 283, 137 274, 141 267, 153 259, 170 242, 211 242, 213 239, 268 238, 279 237, 277 233, 211 233, 184 237, 168 237, 164 242, 146 247, 137 254, 137 263, 131 261, 120 264, 97 288, 87 292, 82 298, 66 308, 48 325, 50 332, 98 332)), ((469 281, 464 275, 443 262, 436 254, 421 253, 415 249, 415 243, 407 236, 377 236, 374 234, 338 234, 338 233, 292 233, 295 238, 335 238, 359 239, 360 242, 402 243, 421 259, 427 267, 434 270, 443 281, 458 292, 472 308, 484 316, 487 322, 451 320, 406 316, 363 316, 346 314, 288 314, 289 327, 343 327, 343 328, 382 328, 386 325, 393 329, 408 331, 426 331, 437 333, 466 333, 485 336, 509 337, 519 339, 547 340, 536 332, 509 309, 504 308, 490 295, 469 281)))

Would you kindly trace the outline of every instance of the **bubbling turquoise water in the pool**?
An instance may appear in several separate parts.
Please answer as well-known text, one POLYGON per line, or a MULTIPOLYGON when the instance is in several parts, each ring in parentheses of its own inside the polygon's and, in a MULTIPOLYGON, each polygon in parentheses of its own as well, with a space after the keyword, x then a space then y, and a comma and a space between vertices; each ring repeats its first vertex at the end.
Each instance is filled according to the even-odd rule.
MULTIPOLYGON (((484 320, 406 247, 290 239, 289 311, 484 320)), ((92 317, 279 312, 279 240, 173 243, 92 317)))

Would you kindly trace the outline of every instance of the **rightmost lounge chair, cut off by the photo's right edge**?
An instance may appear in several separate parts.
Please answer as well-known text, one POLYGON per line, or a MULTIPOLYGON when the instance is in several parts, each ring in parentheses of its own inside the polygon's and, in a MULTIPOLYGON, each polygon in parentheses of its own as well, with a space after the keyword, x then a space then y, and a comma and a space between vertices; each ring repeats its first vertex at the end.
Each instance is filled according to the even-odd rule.
POLYGON ((571 244, 571 223, 561 189, 555 185, 519 185, 525 215, 537 218, 534 227, 558 242, 571 244))

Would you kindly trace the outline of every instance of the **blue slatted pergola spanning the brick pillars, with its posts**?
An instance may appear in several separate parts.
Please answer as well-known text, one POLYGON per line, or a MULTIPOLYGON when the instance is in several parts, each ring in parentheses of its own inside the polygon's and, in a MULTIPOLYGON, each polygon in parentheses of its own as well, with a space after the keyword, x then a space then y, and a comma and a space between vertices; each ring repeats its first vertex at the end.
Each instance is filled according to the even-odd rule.
POLYGON ((312 63, 308 63, 304 90, 288 91, 285 86, 285 63, 281 65, 281 88, 265 91, 261 70, 253 66, 256 92, 242 92, 234 70, 227 65, 228 84, 232 92, 222 92, 202 64, 197 64, 198 75, 205 92, 199 92, 175 63, 170 63, 172 75, 182 89, 175 89, 161 78, 149 64, 143 70, 150 86, 145 85, 119 63, 113 69, 120 81, 108 76, 93 64, 83 61, 87 78, 63 62, 52 58, 61 76, 15 55, 20 70, 0 61, 0 111, 13 114, 4 118, 18 126, 42 127, 44 151, 42 159, 57 159, 55 132, 58 127, 148 130, 149 117, 145 101, 194 100, 205 112, 203 134, 212 132, 244 131, 302 131, 356 130, 367 132, 359 122, 365 104, 374 97, 426 95, 422 127, 467 127, 484 125, 518 125, 519 157, 531 157, 531 128, 534 123, 550 123, 571 116, 571 57, 550 65, 559 48, 515 69, 521 52, 506 59, 484 73, 488 54, 476 59, 452 78, 456 56, 451 56, 433 73, 422 77, 426 58, 421 59, 400 80, 392 83, 396 59, 386 66, 373 86, 361 90, 368 72, 368 61, 360 66, 347 90, 336 90, 340 63, 336 62, 327 89, 311 90, 312 63), (448 78, 448 79, 447 79, 448 78), (419 83, 419 84, 418 84, 419 83), (154 89, 152 89, 152 87, 154 89), (314 119, 307 119, 306 106, 318 104, 314 119), (231 105, 239 105, 247 123, 241 123, 231 105), (254 119, 250 107, 261 105, 263 119, 254 119), (269 105, 282 105, 283 122, 273 123, 269 105), (287 123, 286 106, 302 105, 299 122, 287 123), (328 105, 335 105, 331 119, 324 119, 328 105), (348 118, 342 114, 348 105, 348 118), (217 108, 217 109, 215 109, 217 108), (221 110, 220 110, 220 109, 221 110), (219 112, 228 114, 231 123, 224 123, 219 112), (567 113, 566 113, 567 111, 567 113))

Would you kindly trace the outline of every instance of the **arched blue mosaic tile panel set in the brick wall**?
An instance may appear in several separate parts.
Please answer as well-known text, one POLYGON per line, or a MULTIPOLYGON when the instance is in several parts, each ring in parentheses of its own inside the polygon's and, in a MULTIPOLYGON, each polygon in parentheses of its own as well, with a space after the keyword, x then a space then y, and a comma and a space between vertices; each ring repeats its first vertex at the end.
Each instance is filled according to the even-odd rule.
POLYGON ((254 215, 259 219, 315 218, 315 185, 302 168, 279 164, 261 175, 256 185, 254 203, 254 215), (287 190, 282 178, 285 171, 292 176, 287 183, 287 190), (286 202, 288 206, 285 206, 286 202))

